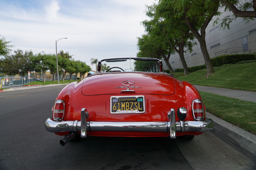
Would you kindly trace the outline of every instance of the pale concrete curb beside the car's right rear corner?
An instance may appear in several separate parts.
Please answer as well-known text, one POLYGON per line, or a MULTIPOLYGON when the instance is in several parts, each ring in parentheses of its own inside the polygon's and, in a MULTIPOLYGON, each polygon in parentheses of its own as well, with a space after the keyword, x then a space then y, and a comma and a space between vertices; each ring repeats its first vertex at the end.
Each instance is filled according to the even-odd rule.
POLYGON ((206 117, 214 121, 212 133, 256 162, 256 135, 232 125, 211 113, 206 117))

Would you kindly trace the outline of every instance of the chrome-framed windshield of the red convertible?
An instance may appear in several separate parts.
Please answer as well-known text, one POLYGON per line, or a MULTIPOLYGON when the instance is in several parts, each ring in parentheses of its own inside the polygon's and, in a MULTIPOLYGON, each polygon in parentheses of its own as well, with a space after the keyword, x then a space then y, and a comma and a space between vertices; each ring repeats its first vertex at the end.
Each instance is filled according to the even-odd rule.
POLYGON ((157 59, 125 58, 102 60, 101 72, 142 71, 160 72, 160 63, 157 59))

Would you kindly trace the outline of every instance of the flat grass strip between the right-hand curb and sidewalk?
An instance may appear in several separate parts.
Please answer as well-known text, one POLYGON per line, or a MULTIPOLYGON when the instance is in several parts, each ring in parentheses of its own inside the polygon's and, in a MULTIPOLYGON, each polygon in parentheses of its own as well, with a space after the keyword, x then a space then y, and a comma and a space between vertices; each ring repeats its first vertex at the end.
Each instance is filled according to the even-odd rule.
POLYGON ((256 103, 200 91, 206 111, 256 135, 256 103))

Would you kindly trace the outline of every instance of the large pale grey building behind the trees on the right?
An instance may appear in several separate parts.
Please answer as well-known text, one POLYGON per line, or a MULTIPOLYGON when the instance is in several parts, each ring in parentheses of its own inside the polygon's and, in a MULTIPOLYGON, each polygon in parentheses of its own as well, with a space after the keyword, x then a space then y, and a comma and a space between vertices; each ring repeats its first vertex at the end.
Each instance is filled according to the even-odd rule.
MULTIPOLYGON (((253 11, 252 8, 248 10, 253 11)), ((224 8, 220 8, 219 11, 224 11, 224 8)), ((251 20, 250 23, 246 24, 243 18, 236 18, 230 23, 230 29, 225 28, 223 30, 220 23, 226 15, 227 12, 218 16, 220 20, 215 26, 213 26, 213 22, 217 17, 213 17, 207 26, 205 39, 210 58, 223 54, 256 53, 256 20, 251 20)), ((198 45, 193 47, 192 53, 184 54, 188 67, 205 64, 200 44, 197 39, 195 41, 198 45)), ((178 54, 172 55, 169 62, 173 70, 183 68, 178 54)), ((168 70, 165 62, 163 62, 163 65, 168 70)))

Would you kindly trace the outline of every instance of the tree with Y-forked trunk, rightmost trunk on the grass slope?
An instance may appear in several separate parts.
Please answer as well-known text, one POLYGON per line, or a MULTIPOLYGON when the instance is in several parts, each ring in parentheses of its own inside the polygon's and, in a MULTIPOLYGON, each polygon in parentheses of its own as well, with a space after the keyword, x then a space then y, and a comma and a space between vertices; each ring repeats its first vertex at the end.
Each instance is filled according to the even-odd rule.
POLYGON ((200 44, 207 68, 206 77, 209 77, 214 73, 214 69, 207 51, 205 29, 212 17, 220 14, 218 12, 219 0, 160 0, 160 3, 172 3, 171 6, 175 8, 170 8, 170 10, 175 10, 176 16, 186 21, 189 30, 192 31, 200 44))

